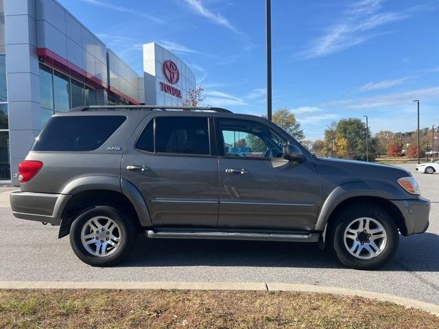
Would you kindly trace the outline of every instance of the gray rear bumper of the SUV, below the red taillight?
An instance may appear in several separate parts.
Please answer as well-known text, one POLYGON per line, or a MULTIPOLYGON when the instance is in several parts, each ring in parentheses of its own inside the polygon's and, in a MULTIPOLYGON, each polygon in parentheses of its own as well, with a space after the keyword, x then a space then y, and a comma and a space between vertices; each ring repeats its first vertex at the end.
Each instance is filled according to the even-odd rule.
POLYGON ((71 195, 13 192, 10 194, 12 215, 19 219, 60 225, 62 210, 71 195))

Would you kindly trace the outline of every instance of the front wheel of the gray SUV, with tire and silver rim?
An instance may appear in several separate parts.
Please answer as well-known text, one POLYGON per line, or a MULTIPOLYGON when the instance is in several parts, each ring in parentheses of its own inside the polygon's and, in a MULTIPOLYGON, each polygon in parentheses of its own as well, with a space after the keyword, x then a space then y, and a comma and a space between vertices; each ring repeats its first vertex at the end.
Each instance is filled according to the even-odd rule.
POLYGON ((399 232, 394 220, 385 210, 373 204, 351 206, 344 210, 331 226, 330 234, 331 249, 338 260, 351 269, 383 266, 392 259, 399 245, 399 232))

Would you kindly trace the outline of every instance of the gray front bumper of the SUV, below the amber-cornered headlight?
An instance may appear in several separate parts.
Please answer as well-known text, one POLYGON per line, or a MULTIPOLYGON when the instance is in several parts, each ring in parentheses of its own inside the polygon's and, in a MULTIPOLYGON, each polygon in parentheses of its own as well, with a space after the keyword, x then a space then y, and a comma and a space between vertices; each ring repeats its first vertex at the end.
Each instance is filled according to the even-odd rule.
POLYGON ((403 214, 405 223, 404 235, 423 233, 429 226, 430 200, 419 199, 390 200, 403 214))

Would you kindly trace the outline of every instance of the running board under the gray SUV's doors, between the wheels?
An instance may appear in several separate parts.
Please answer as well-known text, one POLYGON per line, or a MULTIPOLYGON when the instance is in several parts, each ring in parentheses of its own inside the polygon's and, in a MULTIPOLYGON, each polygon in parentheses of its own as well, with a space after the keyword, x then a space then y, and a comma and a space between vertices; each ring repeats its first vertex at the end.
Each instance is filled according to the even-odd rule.
POLYGON ((147 231, 152 239, 211 239, 211 240, 253 240, 253 241, 289 241, 318 242, 319 233, 257 233, 257 232, 219 232, 219 231, 147 231))

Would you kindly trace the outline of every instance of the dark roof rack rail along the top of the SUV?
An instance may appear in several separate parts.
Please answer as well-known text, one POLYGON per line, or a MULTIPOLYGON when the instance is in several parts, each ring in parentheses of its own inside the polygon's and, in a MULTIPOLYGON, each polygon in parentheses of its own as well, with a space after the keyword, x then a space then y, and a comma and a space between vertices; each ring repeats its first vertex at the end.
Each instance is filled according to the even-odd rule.
POLYGON ((167 106, 167 105, 90 105, 90 106, 77 106, 72 108, 69 112, 81 112, 88 110, 183 110, 183 111, 213 111, 219 113, 232 113, 232 111, 225 108, 211 108, 205 107, 191 107, 191 106, 167 106))

